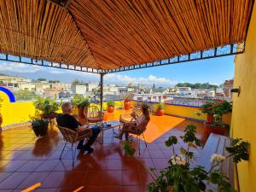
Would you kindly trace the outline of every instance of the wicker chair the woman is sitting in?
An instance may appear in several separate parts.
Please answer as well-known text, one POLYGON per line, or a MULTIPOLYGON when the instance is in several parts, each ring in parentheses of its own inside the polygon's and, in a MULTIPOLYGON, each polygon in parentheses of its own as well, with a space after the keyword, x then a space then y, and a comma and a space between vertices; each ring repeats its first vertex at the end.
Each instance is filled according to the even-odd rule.
POLYGON ((132 125, 131 128, 125 129, 126 132, 137 136, 139 155, 141 154, 141 136, 143 136, 146 148, 148 148, 148 145, 147 145, 145 137, 144 137, 144 131, 146 131, 148 123, 149 123, 149 120, 145 121, 143 124, 141 124, 139 126, 138 125, 132 125))

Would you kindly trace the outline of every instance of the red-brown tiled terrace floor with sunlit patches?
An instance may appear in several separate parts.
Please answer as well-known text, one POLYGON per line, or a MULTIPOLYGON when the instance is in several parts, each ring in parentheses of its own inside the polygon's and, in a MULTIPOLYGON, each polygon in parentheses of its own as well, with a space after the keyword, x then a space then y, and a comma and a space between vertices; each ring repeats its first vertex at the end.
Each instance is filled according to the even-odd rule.
MULTIPOLYGON (((118 119, 119 113, 108 115, 108 119, 118 119)), ((172 150, 164 144, 166 138, 183 135, 183 128, 190 123, 197 125, 201 138, 200 122, 152 116, 145 132, 148 148, 142 142, 141 155, 137 153, 134 157, 126 157, 122 142, 113 138, 111 130, 106 131, 106 143, 95 143, 92 154, 77 153, 74 167, 69 149, 65 150, 63 160, 59 160, 64 142, 55 127, 49 129, 48 137, 41 138, 34 137, 29 127, 2 131, 0 191, 20 191, 38 182, 42 185, 34 191, 73 191, 81 186, 84 188, 80 191, 87 192, 147 191, 147 184, 152 181, 148 168, 165 168, 172 155, 172 150)), ((137 146, 136 139, 134 143, 137 146)), ((181 140, 179 146, 183 146, 181 140)))

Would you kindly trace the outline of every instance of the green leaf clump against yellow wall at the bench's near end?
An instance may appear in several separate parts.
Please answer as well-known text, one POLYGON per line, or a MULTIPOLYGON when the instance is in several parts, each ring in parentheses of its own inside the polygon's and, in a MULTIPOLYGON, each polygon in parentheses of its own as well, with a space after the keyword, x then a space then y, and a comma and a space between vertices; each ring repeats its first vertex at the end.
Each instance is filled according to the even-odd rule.
POLYGON ((241 138, 233 139, 231 147, 226 147, 226 150, 233 155, 234 163, 249 160, 249 143, 243 142, 241 138))

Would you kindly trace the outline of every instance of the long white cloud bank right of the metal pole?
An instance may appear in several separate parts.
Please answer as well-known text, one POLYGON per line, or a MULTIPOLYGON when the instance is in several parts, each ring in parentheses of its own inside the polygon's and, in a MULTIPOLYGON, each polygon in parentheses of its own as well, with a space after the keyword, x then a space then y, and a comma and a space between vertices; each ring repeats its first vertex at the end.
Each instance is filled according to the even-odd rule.
POLYGON ((148 77, 131 77, 128 75, 119 75, 119 74, 108 74, 104 77, 108 83, 113 84, 156 84, 159 86, 172 86, 177 84, 177 82, 172 81, 171 79, 160 78, 154 75, 148 75, 148 77))

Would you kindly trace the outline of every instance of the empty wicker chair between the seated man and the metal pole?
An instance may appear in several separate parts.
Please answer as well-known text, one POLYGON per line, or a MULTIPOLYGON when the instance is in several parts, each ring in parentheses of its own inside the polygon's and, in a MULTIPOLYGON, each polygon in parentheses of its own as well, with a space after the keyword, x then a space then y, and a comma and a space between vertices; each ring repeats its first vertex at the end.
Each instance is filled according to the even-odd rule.
POLYGON ((103 120, 103 113, 96 106, 89 106, 87 111, 84 108, 84 115, 88 123, 98 123, 103 120))

